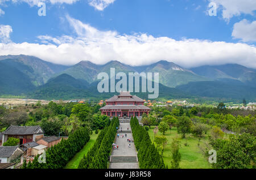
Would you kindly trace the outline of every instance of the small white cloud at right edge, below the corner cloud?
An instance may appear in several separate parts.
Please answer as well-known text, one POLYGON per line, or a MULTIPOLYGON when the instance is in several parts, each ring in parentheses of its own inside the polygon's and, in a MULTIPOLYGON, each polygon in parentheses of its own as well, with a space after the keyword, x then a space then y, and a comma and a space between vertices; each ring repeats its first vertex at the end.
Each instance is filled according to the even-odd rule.
POLYGON ((243 42, 256 41, 256 21, 249 22, 249 20, 243 19, 234 24, 232 36, 240 38, 243 42))

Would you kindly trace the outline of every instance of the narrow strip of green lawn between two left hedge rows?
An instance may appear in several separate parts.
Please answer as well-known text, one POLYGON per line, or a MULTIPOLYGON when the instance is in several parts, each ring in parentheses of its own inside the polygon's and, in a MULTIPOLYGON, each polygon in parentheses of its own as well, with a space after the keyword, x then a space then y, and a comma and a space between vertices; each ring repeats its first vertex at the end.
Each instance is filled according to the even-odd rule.
POLYGON ((81 149, 73 158, 68 162, 68 164, 65 166, 65 169, 77 169, 79 166, 79 162, 84 155, 87 154, 87 152, 90 150, 90 148, 95 143, 96 139, 98 137, 98 134, 93 134, 90 136, 90 140, 88 143, 85 144, 84 148, 81 149))

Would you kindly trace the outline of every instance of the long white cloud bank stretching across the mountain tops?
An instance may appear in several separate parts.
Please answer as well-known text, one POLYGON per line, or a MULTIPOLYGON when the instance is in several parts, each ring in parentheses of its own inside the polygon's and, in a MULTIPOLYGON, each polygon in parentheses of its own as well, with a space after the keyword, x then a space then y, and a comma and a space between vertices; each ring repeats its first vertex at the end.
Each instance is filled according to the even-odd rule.
POLYGON ((225 63, 256 68, 256 47, 253 45, 198 39, 174 40, 146 33, 126 35, 100 31, 70 16, 66 18, 76 37, 39 36, 41 44, 0 43, 0 55, 35 55, 63 65, 74 65, 82 60, 97 64, 118 60, 134 66, 167 60, 187 68, 225 63))

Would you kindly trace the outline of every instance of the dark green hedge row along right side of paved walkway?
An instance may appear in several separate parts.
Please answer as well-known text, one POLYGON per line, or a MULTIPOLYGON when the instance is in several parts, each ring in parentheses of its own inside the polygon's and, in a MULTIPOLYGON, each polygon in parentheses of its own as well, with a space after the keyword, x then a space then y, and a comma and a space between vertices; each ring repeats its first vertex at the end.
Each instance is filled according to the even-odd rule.
POLYGON ((130 125, 133 131, 134 144, 138 151, 139 168, 165 169, 163 157, 155 145, 151 143, 148 132, 139 125, 137 117, 131 117, 130 125))

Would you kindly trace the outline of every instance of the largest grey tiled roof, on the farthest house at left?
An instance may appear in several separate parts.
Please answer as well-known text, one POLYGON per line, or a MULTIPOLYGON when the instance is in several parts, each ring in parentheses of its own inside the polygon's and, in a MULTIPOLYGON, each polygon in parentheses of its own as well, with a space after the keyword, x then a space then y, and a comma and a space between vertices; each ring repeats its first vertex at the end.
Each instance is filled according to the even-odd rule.
MULTIPOLYGON (((42 134, 38 133, 38 130, 42 128, 40 126, 13 126, 7 128, 6 131, 2 132, 7 135, 26 135, 26 134, 42 134)), ((43 131, 43 130, 42 130, 43 131)))

